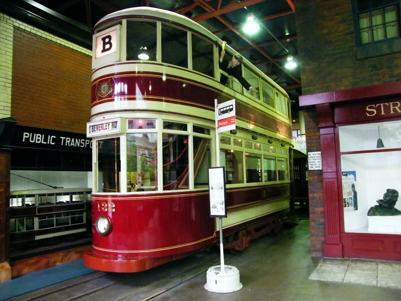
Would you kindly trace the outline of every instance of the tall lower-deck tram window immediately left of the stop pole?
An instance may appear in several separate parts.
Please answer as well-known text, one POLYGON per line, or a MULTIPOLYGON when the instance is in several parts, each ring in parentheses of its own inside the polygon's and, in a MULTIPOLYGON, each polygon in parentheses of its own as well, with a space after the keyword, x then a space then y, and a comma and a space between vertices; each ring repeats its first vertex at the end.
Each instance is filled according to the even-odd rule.
POLYGON ((194 144, 194 187, 207 187, 209 183, 209 167, 212 166, 211 140, 193 137, 194 144))

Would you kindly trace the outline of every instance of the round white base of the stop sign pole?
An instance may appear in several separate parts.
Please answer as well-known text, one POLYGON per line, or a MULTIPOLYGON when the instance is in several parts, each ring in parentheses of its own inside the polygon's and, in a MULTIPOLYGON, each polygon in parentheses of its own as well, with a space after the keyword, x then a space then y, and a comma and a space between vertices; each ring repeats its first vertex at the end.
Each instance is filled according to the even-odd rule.
POLYGON ((212 266, 206 272, 205 289, 213 293, 231 293, 242 289, 239 270, 235 266, 225 265, 222 272, 221 266, 212 266))

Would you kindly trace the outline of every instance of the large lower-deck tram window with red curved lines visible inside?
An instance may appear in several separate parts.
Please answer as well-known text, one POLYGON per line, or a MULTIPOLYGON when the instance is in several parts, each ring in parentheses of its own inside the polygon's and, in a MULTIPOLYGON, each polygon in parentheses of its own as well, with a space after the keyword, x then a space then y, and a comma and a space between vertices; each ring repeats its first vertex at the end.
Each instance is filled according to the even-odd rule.
POLYGON ((188 136, 163 133, 163 190, 188 189, 188 136))

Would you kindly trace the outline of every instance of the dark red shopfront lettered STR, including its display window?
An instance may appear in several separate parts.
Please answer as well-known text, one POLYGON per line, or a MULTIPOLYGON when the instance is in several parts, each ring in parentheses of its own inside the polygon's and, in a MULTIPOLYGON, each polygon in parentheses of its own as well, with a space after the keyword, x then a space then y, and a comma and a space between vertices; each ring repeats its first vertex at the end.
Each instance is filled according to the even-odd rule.
POLYGON ((300 106, 317 113, 324 257, 401 260, 401 81, 301 96, 300 106))

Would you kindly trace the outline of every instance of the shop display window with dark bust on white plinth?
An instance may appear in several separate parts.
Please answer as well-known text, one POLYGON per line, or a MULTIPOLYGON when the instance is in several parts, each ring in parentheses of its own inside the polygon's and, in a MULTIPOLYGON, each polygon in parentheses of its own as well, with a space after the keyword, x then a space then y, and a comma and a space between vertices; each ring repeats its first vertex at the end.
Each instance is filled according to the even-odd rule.
POLYGON ((338 133, 345 232, 401 234, 401 121, 338 133))

